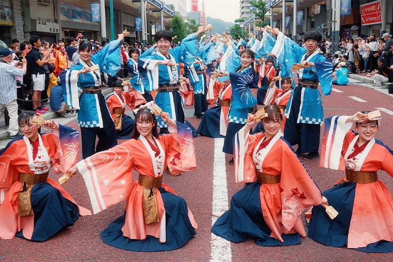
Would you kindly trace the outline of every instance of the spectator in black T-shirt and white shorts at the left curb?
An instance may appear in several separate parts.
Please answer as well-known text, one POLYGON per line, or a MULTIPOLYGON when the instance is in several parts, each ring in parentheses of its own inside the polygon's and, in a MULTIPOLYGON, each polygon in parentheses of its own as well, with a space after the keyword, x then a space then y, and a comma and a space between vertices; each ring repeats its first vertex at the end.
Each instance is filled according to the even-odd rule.
MULTIPOLYGON (((32 47, 28 56, 30 59, 30 70, 32 74, 33 97, 32 100, 41 100, 41 93, 49 85, 49 74, 45 73, 44 64, 50 62, 47 58, 51 55, 51 50, 40 52, 41 39, 38 35, 32 35, 30 38, 32 47)), ((45 113, 49 108, 42 107, 41 102, 33 102, 33 111, 36 113, 45 113)))

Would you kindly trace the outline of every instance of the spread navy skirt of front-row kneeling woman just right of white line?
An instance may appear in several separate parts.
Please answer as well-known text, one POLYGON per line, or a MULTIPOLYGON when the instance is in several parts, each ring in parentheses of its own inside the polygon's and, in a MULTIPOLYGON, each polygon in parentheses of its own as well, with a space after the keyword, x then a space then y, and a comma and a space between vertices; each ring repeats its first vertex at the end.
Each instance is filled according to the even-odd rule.
POLYGON ((263 218, 260 201, 260 182, 254 182, 237 193, 230 201, 230 209, 220 216, 212 233, 234 243, 252 238, 259 246, 289 246, 300 244, 299 234, 282 234, 284 242, 270 237, 272 231, 263 218))

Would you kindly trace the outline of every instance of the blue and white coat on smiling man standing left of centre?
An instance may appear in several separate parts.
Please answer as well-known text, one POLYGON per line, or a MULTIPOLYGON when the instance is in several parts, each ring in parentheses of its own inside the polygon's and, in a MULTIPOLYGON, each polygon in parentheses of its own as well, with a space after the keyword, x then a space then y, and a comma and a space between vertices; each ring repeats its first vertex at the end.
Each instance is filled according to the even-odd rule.
MULTIPOLYGON (((146 84, 148 85, 148 90, 145 87, 146 91, 157 90, 159 85, 163 84, 176 84, 179 81, 179 66, 167 66, 167 65, 158 65, 156 66, 158 60, 167 60, 174 64, 183 63, 185 65, 192 65, 195 61, 195 57, 197 56, 197 34, 193 33, 188 35, 183 39, 181 45, 169 50, 168 56, 162 54, 158 50, 155 50, 154 47, 150 48, 146 52, 144 52, 140 59, 138 60, 139 72, 141 75, 146 77, 146 84)), ((177 91, 180 93, 179 91, 177 91)), ((164 112, 169 113, 169 117, 173 120, 176 120, 176 112, 175 105, 173 100, 172 92, 159 92, 156 95, 155 104, 161 107, 164 112)), ((184 102, 182 102, 182 106, 184 107, 184 102)), ((184 109, 183 109, 184 111, 184 109)), ((166 128, 168 124, 158 117, 158 127, 166 128)))

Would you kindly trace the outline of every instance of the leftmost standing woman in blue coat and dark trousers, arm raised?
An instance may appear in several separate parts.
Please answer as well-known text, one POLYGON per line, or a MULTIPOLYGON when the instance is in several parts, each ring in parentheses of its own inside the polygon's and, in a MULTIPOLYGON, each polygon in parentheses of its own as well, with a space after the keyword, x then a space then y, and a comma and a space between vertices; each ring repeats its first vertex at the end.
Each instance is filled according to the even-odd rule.
POLYGON ((79 63, 60 74, 65 103, 71 109, 78 109, 83 158, 117 145, 116 130, 101 93, 101 71, 112 76, 119 71, 119 44, 123 40, 124 34, 119 34, 117 40, 111 41, 95 55, 91 53, 90 42, 82 42, 79 46, 79 63), (97 65, 99 69, 91 70, 92 66, 97 65), (83 94, 78 99, 79 86, 82 86, 83 94), (99 140, 95 150, 96 136, 99 140))

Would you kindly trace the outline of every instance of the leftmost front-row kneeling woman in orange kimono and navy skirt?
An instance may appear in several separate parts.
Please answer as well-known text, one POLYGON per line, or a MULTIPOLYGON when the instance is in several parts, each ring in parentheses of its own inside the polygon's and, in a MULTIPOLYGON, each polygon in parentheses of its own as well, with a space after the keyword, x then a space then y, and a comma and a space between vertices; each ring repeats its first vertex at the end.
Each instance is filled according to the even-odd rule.
POLYGON ((78 132, 45 121, 52 133, 39 134, 25 111, 18 117, 24 134, 0 151, 0 238, 15 236, 43 242, 64 227, 72 226, 79 215, 91 215, 53 179, 49 170, 67 173, 78 157, 78 132), (63 159, 64 157, 64 159, 63 159), (65 160, 66 159, 66 160, 65 160), (22 189, 22 192, 21 192, 22 189))

